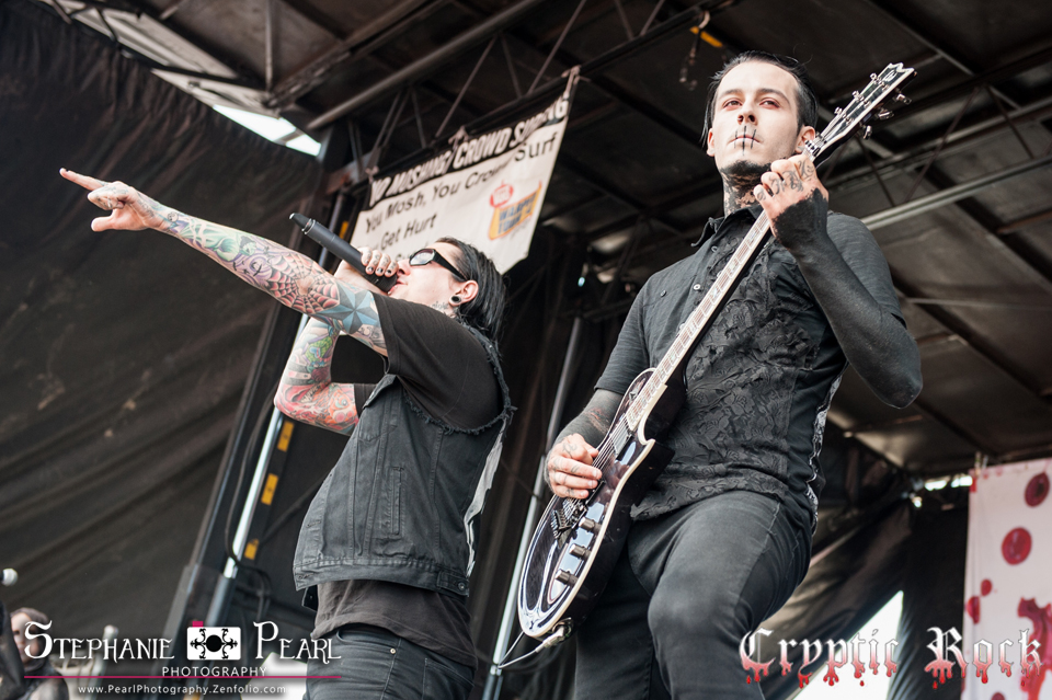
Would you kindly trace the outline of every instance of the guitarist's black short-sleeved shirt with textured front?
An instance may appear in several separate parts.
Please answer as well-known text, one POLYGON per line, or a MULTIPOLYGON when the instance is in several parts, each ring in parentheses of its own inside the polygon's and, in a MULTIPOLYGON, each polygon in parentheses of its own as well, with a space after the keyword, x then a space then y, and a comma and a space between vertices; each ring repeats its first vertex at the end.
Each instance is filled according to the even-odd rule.
MULTIPOLYGON (((711 220, 694 255, 647 282, 597 389, 625 393, 639 372, 661 360, 759 210, 711 220)), ((901 320, 872 233, 858 219, 833 213, 827 231, 862 286, 901 320)), ((796 261, 771 241, 688 360, 686 402, 665 440, 675 456, 633 517, 653 518, 745 490, 779 498, 798 524, 813 527, 824 484, 817 456, 825 416, 845 367, 796 261)))

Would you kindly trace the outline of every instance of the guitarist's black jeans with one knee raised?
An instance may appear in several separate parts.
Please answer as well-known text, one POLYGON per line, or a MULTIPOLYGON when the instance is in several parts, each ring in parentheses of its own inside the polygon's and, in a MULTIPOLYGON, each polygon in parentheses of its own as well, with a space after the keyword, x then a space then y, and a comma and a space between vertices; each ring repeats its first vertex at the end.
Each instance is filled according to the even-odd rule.
POLYGON ((580 628, 576 699, 763 698, 739 643, 803 578, 810 541, 778 501, 747 491, 632 525, 580 628))

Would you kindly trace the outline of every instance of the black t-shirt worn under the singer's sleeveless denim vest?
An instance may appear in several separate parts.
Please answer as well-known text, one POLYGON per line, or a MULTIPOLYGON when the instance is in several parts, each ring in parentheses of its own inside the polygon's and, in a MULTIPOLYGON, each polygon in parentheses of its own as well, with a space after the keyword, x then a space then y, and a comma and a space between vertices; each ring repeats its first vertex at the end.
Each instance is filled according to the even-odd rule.
MULTIPOLYGON (((398 377, 409 400, 434 420, 461 429, 481 427, 500 413, 496 376, 485 349, 467 329, 423 305, 375 298, 387 342, 387 371, 398 377)), ((355 405, 365 405, 373 388, 355 385, 355 405)), ((345 624, 371 624, 474 667, 469 621, 460 596, 386 581, 336 581, 318 586, 311 636, 319 639, 345 624)))

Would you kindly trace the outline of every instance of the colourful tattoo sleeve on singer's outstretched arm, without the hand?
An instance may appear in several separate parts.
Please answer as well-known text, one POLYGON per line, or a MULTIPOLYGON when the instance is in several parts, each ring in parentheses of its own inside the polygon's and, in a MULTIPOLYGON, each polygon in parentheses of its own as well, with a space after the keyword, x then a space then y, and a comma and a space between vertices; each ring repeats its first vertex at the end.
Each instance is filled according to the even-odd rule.
POLYGON ((201 251, 279 302, 324 319, 381 355, 387 345, 373 292, 338 280, 317 263, 265 238, 186 216, 150 200, 161 230, 201 251))

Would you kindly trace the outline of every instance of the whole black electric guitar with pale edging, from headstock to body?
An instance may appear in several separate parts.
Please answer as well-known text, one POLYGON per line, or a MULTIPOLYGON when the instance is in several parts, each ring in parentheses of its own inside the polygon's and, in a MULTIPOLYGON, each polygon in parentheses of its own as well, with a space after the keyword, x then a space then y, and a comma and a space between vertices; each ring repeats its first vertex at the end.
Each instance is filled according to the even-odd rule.
MULTIPOLYGON (((912 68, 891 64, 844 108, 830 125, 807 142, 817 163, 872 118, 885 119, 882 110, 892 97, 908 104, 899 92, 912 68)), ((872 127, 865 126, 865 136, 872 127)), ((597 446, 592 466, 603 472, 586 498, 556 496, 540 518, 523 566, 518 589, 518 621, 523 631, 545 639, 545 645, 564 640, 584 621, 607 578, 631 526, 629 512, 672 459, 673 451, 658 441, 686 399, 684 370, 694 347, 709 328, 737 280, 769 239, 770 221, 762 214, 720 272, 705 298, 683 325, 656 367, 644 370, 629 386, 614 415, 610 429, 597 446)))

